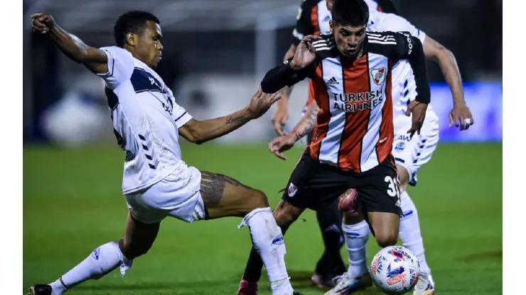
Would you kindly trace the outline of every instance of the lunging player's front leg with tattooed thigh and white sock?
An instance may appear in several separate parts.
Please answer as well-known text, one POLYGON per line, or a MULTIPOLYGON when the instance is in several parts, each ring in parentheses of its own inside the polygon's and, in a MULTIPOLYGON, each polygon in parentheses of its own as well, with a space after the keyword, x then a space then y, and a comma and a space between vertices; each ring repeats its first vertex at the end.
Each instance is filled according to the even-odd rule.
MULTIPOLYGON (((280 211, 274 212, 273 216, 267 196, 262 191, 247 187, 231 177, 202 172, 201 179, 200 193, 208 209, 208 217, 244 216, 240 228, 249 228, 254 252, 251 260, 259 266, 259 274, 264 265, 273 294, 292 294, 284 262, 286 249, 283 232, 286 228, 282 232, 277 223, 280 219, 274 219, 280 211)), ((282 221, 287 225, 291 222, 282 221)))

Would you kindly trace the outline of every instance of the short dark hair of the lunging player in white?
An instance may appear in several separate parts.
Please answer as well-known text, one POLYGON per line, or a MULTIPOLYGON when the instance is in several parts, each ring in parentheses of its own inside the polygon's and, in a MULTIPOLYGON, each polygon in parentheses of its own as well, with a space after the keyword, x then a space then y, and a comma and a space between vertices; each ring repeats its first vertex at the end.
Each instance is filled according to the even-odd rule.
POLYGON ((124 47, 127 33, 142 33, 147 21, 161 23, 159 18, 146 11, 128 11, 119 16, 113 27, 113 36, 117 46, 124 47))

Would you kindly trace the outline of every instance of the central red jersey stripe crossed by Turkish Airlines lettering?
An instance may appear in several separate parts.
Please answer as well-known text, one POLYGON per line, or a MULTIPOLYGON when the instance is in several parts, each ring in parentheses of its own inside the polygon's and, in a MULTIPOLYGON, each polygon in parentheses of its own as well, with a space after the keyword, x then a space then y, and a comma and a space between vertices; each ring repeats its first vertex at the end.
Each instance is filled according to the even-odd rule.
MULTIPOLYGON (((358 94, 369 92, 369 74, 367 71, 367 55, 360 57, 355 62, 342 58, 343 80, 345 94, 358 94)), ((363 101, 347 101, 346 107, 358 108, 363 101)), ((363 111, 348 111, 345 113, 345 127, 338 152, 338 166, 345 171, 360 172, 360 156, 362 140, 367 133, 370 109, 363 111)))

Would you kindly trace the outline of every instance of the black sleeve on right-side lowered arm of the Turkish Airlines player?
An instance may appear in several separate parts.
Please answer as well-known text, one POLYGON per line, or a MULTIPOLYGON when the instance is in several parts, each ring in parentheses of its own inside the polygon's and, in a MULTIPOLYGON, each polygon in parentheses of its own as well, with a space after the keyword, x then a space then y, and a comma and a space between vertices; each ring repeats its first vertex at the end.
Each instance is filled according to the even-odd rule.
MULTIPOLYGON (((392 32, 391 32, 392 33, 392 32)), ((417 84, 416 101, 424 104, 431 102, 431 89, 427 79, 426 57, 424 46, 419 38, 412 36, 409 32, 392 33, 396 40, 394 60, 408 60, 414 74, 414 82, 417 84)))

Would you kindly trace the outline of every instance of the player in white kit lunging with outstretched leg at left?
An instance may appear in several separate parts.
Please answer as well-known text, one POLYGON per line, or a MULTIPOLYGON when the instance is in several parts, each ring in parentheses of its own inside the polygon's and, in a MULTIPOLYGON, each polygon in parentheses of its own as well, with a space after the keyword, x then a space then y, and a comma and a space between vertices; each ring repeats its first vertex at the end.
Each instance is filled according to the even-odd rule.
POLYGON ((178 135, 204 143, 258 118, 279 94, 257 91, 246 108, 228 116, 197 121, 176 104, 154 71, 163 45, 159 19, 144 11, 119 16, 117 46, 92 48, 60 28, 48 13, 36 13, 33 30, 46 34, 75 62, 104 80, 117 143, 126 152, 122 191, 129 213, 124 238, 97 247, 84 261, 50 284, 30 287, 32 295, 59 295, 117 267, 121 274, 153 245, 166 216, 191 223, 242 217, 254 248, 267 268, 272 294, 294 292, 284 264, 285 245, 267 196, 222 174, 200 172, 181 158, 178 135))

